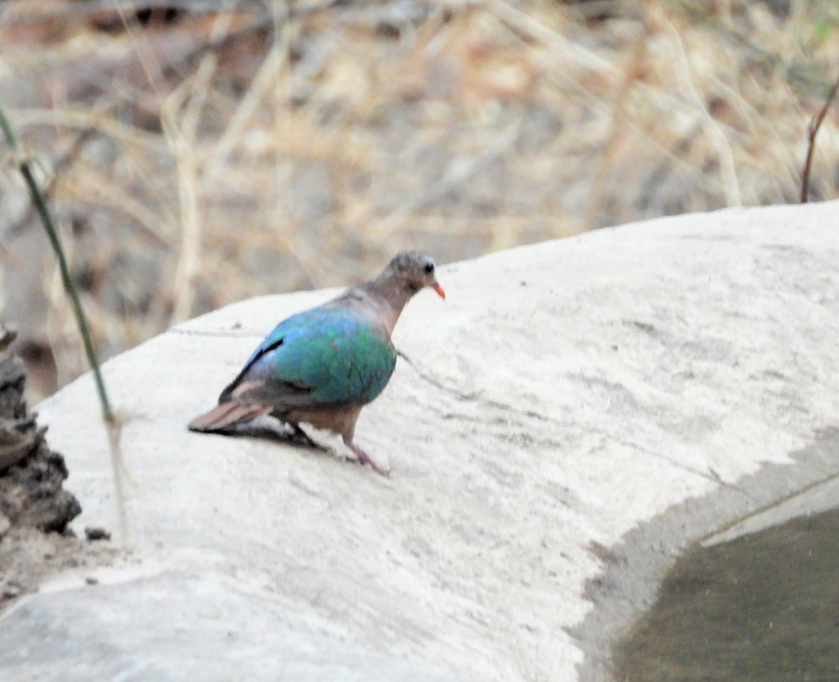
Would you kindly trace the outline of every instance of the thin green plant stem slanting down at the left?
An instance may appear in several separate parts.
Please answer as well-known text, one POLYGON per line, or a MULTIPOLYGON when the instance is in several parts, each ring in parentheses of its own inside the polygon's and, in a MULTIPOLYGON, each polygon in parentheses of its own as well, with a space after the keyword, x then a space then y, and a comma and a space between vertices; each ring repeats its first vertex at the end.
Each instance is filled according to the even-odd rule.
MULTIPOLYGON (((3 111, 3 107, 0 107, 0 127, 3 128, 6 142, 9 148, 12 149, 13 154, 19 154, 18 138, 15 137, 12 126, 8 122, 8 117, 6 117, 6 112, 3 111)), ((85 311, 81 307, 76 285, 73 284, 73 279, 70 277, 70 268, 67 267, 67 258, 65 258, 64 248, 61 246, 58 231, 55 229, 52 216, 50 216, 50 211, 44 201, 44 195, 41 194, 38 183, 35 182, 32 169, 29 167, 29 161, 21 159, 18 163, 18 168, 21 174, 23 174, 23 180, 26 181, 27 187, 29 187, 29 195, 32 197, 32 203, 36 211, 38 211, 41 222, 44 223, 44 229, 47 231, 53 251, 55 251, 55 258, 58 260, 58 267, 61 272, 61 281, 64 283, 64 289, 70 297, 70 305, 73 308, 73 314, 76 315, 76 325, 79 326, 81 340, 85 344, 87 362, 90 362, 91 369, 93 370, 93 377, 96 381, 96 392, 99 393, 99 402, 102 404, 102 417, 108 424, 113 424, 115 417, 111 409, 111 403, 108 402, 105 381, 102 378, 99 359, 96 357, 96 350, 93 347, 90 327, 87 325, 87 318, 85 317, 85 311)))

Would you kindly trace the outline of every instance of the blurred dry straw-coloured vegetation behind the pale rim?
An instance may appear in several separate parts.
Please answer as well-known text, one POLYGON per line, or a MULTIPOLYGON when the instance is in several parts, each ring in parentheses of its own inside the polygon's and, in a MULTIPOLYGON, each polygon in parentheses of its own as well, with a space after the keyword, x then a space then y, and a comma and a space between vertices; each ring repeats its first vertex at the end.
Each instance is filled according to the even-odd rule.
MULTIPOLYGON (((796 201, 837 72, 835 0, 0 2, 0 105, 103 357, 401 247, 445 263, 796 201)), ((814 200, 839 187, 836 122, 814 200)), ((36 400, 87 367, 3 157, 0 319, 36 400)))

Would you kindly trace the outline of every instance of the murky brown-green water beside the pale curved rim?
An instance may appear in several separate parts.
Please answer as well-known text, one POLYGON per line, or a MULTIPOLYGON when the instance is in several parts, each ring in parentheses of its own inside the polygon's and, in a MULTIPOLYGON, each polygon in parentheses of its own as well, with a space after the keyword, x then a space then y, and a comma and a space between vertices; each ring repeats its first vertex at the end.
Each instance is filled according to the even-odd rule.
POLYGON ((837 682, 839 509, 691 549, 613 660, 618 682, 837 682))

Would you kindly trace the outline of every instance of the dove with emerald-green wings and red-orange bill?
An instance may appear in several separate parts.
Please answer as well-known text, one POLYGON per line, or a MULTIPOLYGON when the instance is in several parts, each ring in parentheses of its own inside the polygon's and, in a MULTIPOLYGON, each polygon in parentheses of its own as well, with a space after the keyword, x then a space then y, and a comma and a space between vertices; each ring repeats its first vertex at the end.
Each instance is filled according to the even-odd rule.
POLYGON ((425 288, 446 300, 434 259, 400 251, 373 279, 291 315, 253 351, 221 391, 218 405, 188 428, 224 433, 268 414, 309 445, 319 446, 300 424, 340 435, 360 464, 388 476, 353 440, 356 421, 387 386, 396 367, 393 327, 408 301, 425 288))

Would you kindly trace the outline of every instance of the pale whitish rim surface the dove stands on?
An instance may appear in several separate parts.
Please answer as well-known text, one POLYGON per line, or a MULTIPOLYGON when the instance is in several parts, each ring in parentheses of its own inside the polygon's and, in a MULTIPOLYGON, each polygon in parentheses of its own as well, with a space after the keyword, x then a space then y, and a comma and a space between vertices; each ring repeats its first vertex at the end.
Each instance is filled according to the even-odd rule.
MULTIPOLYGON (((399 362, 358 423, 390 479, 185 430, 277 320, 333 292, 244 301, 115 358, 138 563, 18 600, 4 679, 608 679, 685 543, 839 472, 837 210, 440 268, 446 304, 417 297, 394 334, 423 376, 399 362)), ((81 521, 118 528, 90 377, 40 410, 81 521)))

